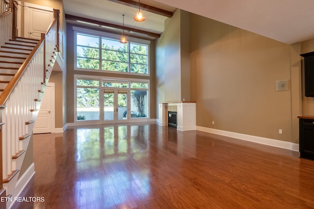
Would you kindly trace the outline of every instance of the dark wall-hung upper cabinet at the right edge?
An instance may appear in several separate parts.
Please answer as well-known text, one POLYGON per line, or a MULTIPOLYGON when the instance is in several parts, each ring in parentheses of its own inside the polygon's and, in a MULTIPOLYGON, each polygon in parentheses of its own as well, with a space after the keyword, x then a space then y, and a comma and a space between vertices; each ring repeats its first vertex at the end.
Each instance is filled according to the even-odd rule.
POLYGON ((305 96, 314 96, 314 51, 300 54, 304 57, 305 96))

